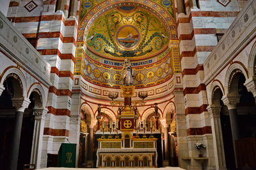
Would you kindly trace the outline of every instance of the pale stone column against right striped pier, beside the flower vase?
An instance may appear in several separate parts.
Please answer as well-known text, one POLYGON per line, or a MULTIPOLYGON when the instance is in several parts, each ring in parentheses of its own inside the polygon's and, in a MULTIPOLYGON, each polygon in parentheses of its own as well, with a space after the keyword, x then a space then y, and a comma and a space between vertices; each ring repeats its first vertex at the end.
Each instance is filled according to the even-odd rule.
POLYGON ((209 112, 211 118, 216 169, 226 169, 225 152, 220 121, 221 106, 214 107, 209 105, 207 107, 207 111, 209 112))

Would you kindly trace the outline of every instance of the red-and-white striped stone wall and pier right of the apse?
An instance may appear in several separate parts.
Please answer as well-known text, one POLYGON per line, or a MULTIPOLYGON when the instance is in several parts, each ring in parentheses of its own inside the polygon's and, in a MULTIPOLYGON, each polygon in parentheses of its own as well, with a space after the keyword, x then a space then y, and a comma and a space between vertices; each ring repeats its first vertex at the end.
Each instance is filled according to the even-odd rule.
MULTIPOLYGON (((193 144, 196 140, 212 143, 211 121, 206 109, 207 93, 203 83, 203 63, 218 43, 216 34, 225 33, 243 5, 236 0, 232 0, 227 6, 222 6, 216 0, 185 0, 183 12, 182 8, 175 6, 186 116, 183 121, 186 122, 184 139, 190 145, 189 148, 195 148, 193 144)), ((193 149, 191 150, 193 152, 193 149)), ((207 150, 212 153, 213 148, 209 147, 207 150)), ((182 156, 188 157, 188 154, 193 153, 182 153, 182 156)))

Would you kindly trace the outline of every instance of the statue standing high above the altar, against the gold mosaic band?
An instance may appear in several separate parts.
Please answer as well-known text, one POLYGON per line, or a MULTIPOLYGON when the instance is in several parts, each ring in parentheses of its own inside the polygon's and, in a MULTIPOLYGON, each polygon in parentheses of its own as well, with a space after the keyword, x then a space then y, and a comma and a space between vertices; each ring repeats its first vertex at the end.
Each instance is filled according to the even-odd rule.
POLYGON ((123 72, 124 72, 124 75, 123 75, 124 85, 131 86, 133 84, 134 75, 133 75, 131 63, 127 59, 124 60, 123 72))

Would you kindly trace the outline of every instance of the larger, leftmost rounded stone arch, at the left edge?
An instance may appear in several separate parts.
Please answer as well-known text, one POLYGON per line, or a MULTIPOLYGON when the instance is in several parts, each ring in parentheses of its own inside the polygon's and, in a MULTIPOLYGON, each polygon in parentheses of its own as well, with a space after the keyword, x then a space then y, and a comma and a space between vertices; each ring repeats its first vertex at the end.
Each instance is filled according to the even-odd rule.
POLYGON ((0 84, 3 85, 4 81, 9 76, 13 76, 14 78, 17 76, 17 79, 19 79, 18 81, 20 84, 20 88, 22 88, 21 95, 22 95, 22 97, 26 97, 27 91, 28 91, 28 86, 27 86, 27 81, 26 81, 24 74, 18 68, 15 68, 15 67, 7 68, 2 73, 0 84))

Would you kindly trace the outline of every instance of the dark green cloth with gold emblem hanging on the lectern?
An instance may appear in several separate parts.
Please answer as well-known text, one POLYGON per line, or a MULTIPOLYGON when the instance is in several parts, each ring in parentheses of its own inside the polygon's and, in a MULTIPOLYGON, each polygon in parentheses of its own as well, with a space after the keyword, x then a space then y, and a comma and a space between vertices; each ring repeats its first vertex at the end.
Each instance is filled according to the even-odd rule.
POLYGON ((76 167, 76 144, 61 143, 58 152, 58 167, 76 167))

